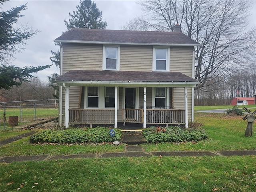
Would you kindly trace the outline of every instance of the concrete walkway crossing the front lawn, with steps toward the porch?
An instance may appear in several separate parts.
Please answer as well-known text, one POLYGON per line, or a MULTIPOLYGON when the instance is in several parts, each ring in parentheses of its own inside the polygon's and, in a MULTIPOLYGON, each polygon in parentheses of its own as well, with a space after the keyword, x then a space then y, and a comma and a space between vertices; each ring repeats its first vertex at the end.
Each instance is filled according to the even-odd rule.
MULTIPOLYGON (((34 134, 35 131, 21 134, 14 138, 1 141, 1 146, 14 142, 18 139, 25 138, 34 134)), ((121 142, 130 144, 145 142, 141 134, 124 134, 121 142)), ((256 150, 242 150, 242 151, 161 151, 161 152, 146 152, 141 146, 127 145, 124 146, 124 152, 115 153, 96 153, 96 154, 74 154, 74 155, 35 155, 35 156, 4 156, 0 157, 0 162, 24 162, 24 161, 44 161, 44 160, 56 160, 56 159, 68 159, 68 158, 119 158, 119 157, 151 157, 151 156, 244 156, 244 155, 256 155, 256 150)))

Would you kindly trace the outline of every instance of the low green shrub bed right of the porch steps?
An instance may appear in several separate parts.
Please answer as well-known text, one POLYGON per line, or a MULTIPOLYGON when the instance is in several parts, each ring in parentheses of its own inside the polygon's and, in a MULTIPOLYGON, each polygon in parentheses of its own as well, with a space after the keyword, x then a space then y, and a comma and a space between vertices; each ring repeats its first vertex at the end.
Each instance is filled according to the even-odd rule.
POLYGON ((208 139, 208 134, 202 129, 187 129, 178 126, 149 127, 143 131, 147 142, 189 142, 208 139))

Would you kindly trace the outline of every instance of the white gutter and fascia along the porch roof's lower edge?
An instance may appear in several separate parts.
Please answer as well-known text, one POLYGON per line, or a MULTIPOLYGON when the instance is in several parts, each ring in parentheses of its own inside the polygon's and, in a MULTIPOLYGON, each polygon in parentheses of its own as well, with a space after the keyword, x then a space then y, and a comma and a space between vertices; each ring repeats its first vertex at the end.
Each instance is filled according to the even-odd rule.
POLYGON ((135 87, 196 87, 200 82, 123 82, 123 81, 58 81, 68 86, 135 86, 135 87))

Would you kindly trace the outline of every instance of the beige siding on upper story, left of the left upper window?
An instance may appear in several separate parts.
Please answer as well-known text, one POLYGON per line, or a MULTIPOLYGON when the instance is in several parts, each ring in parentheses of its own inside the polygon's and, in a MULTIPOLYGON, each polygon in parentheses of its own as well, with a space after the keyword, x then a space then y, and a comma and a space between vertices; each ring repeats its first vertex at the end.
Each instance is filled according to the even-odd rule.
POLYGON ((102 70, 103 46, 90 44, 63 45, 63 74, 70 70, 102 70))

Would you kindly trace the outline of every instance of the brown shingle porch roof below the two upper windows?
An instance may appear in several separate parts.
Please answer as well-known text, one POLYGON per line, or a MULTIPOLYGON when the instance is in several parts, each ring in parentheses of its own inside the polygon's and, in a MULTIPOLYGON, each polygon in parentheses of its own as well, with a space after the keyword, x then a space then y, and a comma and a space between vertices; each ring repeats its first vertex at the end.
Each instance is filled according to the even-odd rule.
POLYGON ((180 72, 70 70, 56 81, 197 82, 180 72))

